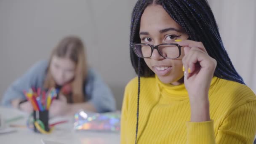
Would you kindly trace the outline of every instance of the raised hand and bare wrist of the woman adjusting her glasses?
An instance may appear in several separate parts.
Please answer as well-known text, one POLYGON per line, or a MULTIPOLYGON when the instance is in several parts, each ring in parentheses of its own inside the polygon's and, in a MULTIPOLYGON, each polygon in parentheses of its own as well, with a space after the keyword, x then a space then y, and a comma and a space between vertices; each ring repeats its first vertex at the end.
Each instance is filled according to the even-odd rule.
POLYGON ((184 46, 184 84, 189 93, 191 121, 210 120, 208 93, 217 62, 208 55, 203 43, 178 42, 184 46))

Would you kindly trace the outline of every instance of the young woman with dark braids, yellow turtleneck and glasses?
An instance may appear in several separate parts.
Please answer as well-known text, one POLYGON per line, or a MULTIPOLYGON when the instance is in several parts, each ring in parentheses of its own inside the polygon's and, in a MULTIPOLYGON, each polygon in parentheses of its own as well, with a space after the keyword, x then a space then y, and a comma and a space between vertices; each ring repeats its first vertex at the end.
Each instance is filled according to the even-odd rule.
POLYGON ((206 0, 139 0, 121 143, 251 144, 256 96, 238 75, 206 0), (138 91, 137 91, 138 90, 138 91))

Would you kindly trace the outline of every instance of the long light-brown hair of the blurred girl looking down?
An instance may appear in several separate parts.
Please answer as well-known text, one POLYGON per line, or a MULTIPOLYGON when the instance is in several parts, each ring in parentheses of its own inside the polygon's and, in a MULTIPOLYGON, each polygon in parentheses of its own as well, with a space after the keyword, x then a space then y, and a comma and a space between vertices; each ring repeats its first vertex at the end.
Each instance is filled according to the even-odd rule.
MULTIPOLYGON (((53 80, 53 76, 50 72, 50 64, 53 56, 58 56, 60 58, 69 58, 70 60, 75 62, 75 77, 70 82, 72 88, 72 101, 74 103, 85 101, 83 84, 84 80, 87 77, 87 63, 85 61, 85 47, 82 40, 76 36, 64 37, 53 49, 48 64, 44 88, 52 88, 56 86, 56 82, 53 80)), ((69 99, 67 95, 65 96, 67 97, 67 99, 69 99)))

